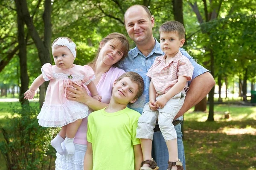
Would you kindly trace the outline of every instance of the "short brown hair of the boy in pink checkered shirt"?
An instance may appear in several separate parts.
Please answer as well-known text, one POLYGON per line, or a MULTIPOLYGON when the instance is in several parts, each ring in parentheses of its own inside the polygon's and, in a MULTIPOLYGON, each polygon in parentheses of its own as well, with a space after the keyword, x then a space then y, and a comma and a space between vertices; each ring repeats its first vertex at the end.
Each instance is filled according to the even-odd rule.
POLYGON ((182 23, 178 21, 167 21, 159 28, 159 34, 162 32, 177 32, 180 39, 185 38, 185 28, 182 23))

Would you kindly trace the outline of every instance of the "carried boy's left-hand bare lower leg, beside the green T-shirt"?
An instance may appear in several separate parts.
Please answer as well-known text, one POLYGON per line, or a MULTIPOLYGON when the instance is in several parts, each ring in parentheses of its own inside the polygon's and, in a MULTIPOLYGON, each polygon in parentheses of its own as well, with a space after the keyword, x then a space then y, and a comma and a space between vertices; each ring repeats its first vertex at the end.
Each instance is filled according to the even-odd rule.
MULTIPOLYGON (((152 140, 140 139, 140 145, 143 153, 143 161, 151 160, 152 140)), ((143 164, 143 167, 149 167, 149 164, 143 164)))

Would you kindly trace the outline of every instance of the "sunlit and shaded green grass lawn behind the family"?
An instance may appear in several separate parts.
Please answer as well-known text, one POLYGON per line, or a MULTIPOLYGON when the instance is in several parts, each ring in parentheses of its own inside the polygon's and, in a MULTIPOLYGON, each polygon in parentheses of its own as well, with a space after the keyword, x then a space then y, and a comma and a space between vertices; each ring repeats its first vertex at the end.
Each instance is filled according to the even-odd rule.
MULTIPOLYGON (((7 123, 13 107, 20 103, 0 102, 0 125, 7 123)), ((186 169, 256 170, 256 107, 215 105, 214 110, 215 122, 206 122, 208 112, 193 108, 184 116, 186 169), (230 111, 230 119, 223 119, 224 111, 230 111)), ((0 156, 0 170, 6 170, 4 162, 0 156)))

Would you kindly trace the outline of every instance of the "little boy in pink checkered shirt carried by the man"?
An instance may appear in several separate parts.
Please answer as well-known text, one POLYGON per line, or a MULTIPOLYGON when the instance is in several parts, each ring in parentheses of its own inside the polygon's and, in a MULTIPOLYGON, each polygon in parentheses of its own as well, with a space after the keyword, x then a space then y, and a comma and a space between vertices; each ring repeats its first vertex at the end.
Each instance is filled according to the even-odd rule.
POLYGON ((188 81, 193 74, 193 66, 179 48, 185 42, 185 28, 177 21, 167 21, 159 29, 160 47, 165 53, 155 59, 148 70, 151 78, 149 102, 143 108, 138 120, 137 138, 140 138, 143 151, 143 162, 140 170, 158 170, 151 158, 151 147, 156 120, 169 152, 167 170, 183 170, 178 159, 177 134, 172 121, 183 105, 188 81))

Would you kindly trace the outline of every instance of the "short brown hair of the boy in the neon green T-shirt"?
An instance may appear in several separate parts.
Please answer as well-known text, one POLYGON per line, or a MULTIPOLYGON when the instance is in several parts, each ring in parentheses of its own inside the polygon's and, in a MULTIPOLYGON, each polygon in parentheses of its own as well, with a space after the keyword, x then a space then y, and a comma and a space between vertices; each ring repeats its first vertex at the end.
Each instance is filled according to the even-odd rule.
POLYGON ((118 79, 116 79, 116 82, 119 82, 124 77, 129 77, 132 82, 135 82, 138 85, 138 93, 136 94, 134 99, 139 98, 143 94, 143 91, 144 91, 143 78, 140 76, 140 74, 137 74, 133 71, 129 71, 129 72, 122 74, 118 79))

